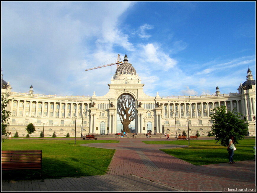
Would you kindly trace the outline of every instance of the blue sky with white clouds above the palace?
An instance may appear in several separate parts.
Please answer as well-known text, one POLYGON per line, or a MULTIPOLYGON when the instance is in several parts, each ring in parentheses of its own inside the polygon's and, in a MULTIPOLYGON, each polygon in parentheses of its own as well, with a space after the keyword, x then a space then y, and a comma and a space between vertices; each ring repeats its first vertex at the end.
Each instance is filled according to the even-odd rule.
POLYGON ((235 93, 256 79, 255 2, 1 2, 12 91, 103 96, 128 56, 149 96, 235 93))

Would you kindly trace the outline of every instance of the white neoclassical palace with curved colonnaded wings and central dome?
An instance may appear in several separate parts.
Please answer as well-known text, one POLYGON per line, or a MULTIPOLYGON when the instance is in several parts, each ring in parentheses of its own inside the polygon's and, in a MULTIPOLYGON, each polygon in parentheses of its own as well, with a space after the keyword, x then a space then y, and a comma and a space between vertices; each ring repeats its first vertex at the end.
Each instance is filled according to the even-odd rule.
POLYGON ((33 94, 32 85, 29 93, 12 92, 9 82, 2 79, 2 94, 11 100, 7 106, 11 116, 6 131, 26 136, 26 126, 33 123, 34 136, 44 130, 45 137, 52 136, 53 132, 57 137, 65 137, 68 132, 74 137, 76 123, 77 137, 115 134, 123 130, 117 114, 117 99, 122 94, 130 94, 135 99, 136 112, 129 128, 136 134, 167 132, 175 137, 176 133, 187 131, 189 125, 190 135, 195 135, 197 130, 207 135, 212 126, 212 109, 226 106, 227 111, 243 114, 241 118, 248 120, 250 135, 255 136, 256 89, 250 69, 246 77, 235 93, 220 94, 217 86, 216 94, 212 95, 164 97, 157 92, 156 96, 147 96, 143 92, 144 84, 125 55, 104 96, 33 94))

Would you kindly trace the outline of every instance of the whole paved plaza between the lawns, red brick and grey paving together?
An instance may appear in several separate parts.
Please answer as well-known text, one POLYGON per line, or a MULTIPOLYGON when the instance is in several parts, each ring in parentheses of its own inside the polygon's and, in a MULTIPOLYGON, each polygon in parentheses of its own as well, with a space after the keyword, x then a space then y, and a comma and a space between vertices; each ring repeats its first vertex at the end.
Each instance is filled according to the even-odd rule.
POLYGON ((195 166, 159 150, 183 147, 182 145, 144 144, 141 141, 146 139, 143 138, 108 140, 120 140, 120 143, 83 144, 116 149, 106 175, 45 179, 44 182, 2 180, 2 192, 226 192, 229 188, 255 188, 254 160, 195 166))

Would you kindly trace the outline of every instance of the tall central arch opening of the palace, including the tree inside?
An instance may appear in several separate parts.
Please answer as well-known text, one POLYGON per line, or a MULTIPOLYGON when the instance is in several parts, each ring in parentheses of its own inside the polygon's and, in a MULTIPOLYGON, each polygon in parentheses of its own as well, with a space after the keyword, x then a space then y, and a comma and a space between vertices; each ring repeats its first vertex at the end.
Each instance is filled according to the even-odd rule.
POLYGON ((121 94, 117 99, 117 132, 135 132, 135 99, 131 94, 121 94))

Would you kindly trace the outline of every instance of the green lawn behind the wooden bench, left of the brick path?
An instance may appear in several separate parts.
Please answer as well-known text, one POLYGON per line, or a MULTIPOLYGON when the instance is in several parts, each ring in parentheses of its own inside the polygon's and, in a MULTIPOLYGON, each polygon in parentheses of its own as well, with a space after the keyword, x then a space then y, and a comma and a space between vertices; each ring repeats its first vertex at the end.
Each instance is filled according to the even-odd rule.
MULTIPOLYGON (((105 174, 115 153, 113 149, 84 147, 79 144, 118 142, 77 139, 75 145, 74 139, 7 139, 2 143, 2 150, 42 150, 44 179, 79 177, 105 174)), ((39 172, 39 170, 6 170, 2 171, 2 179, 38 179, 39 172)))

